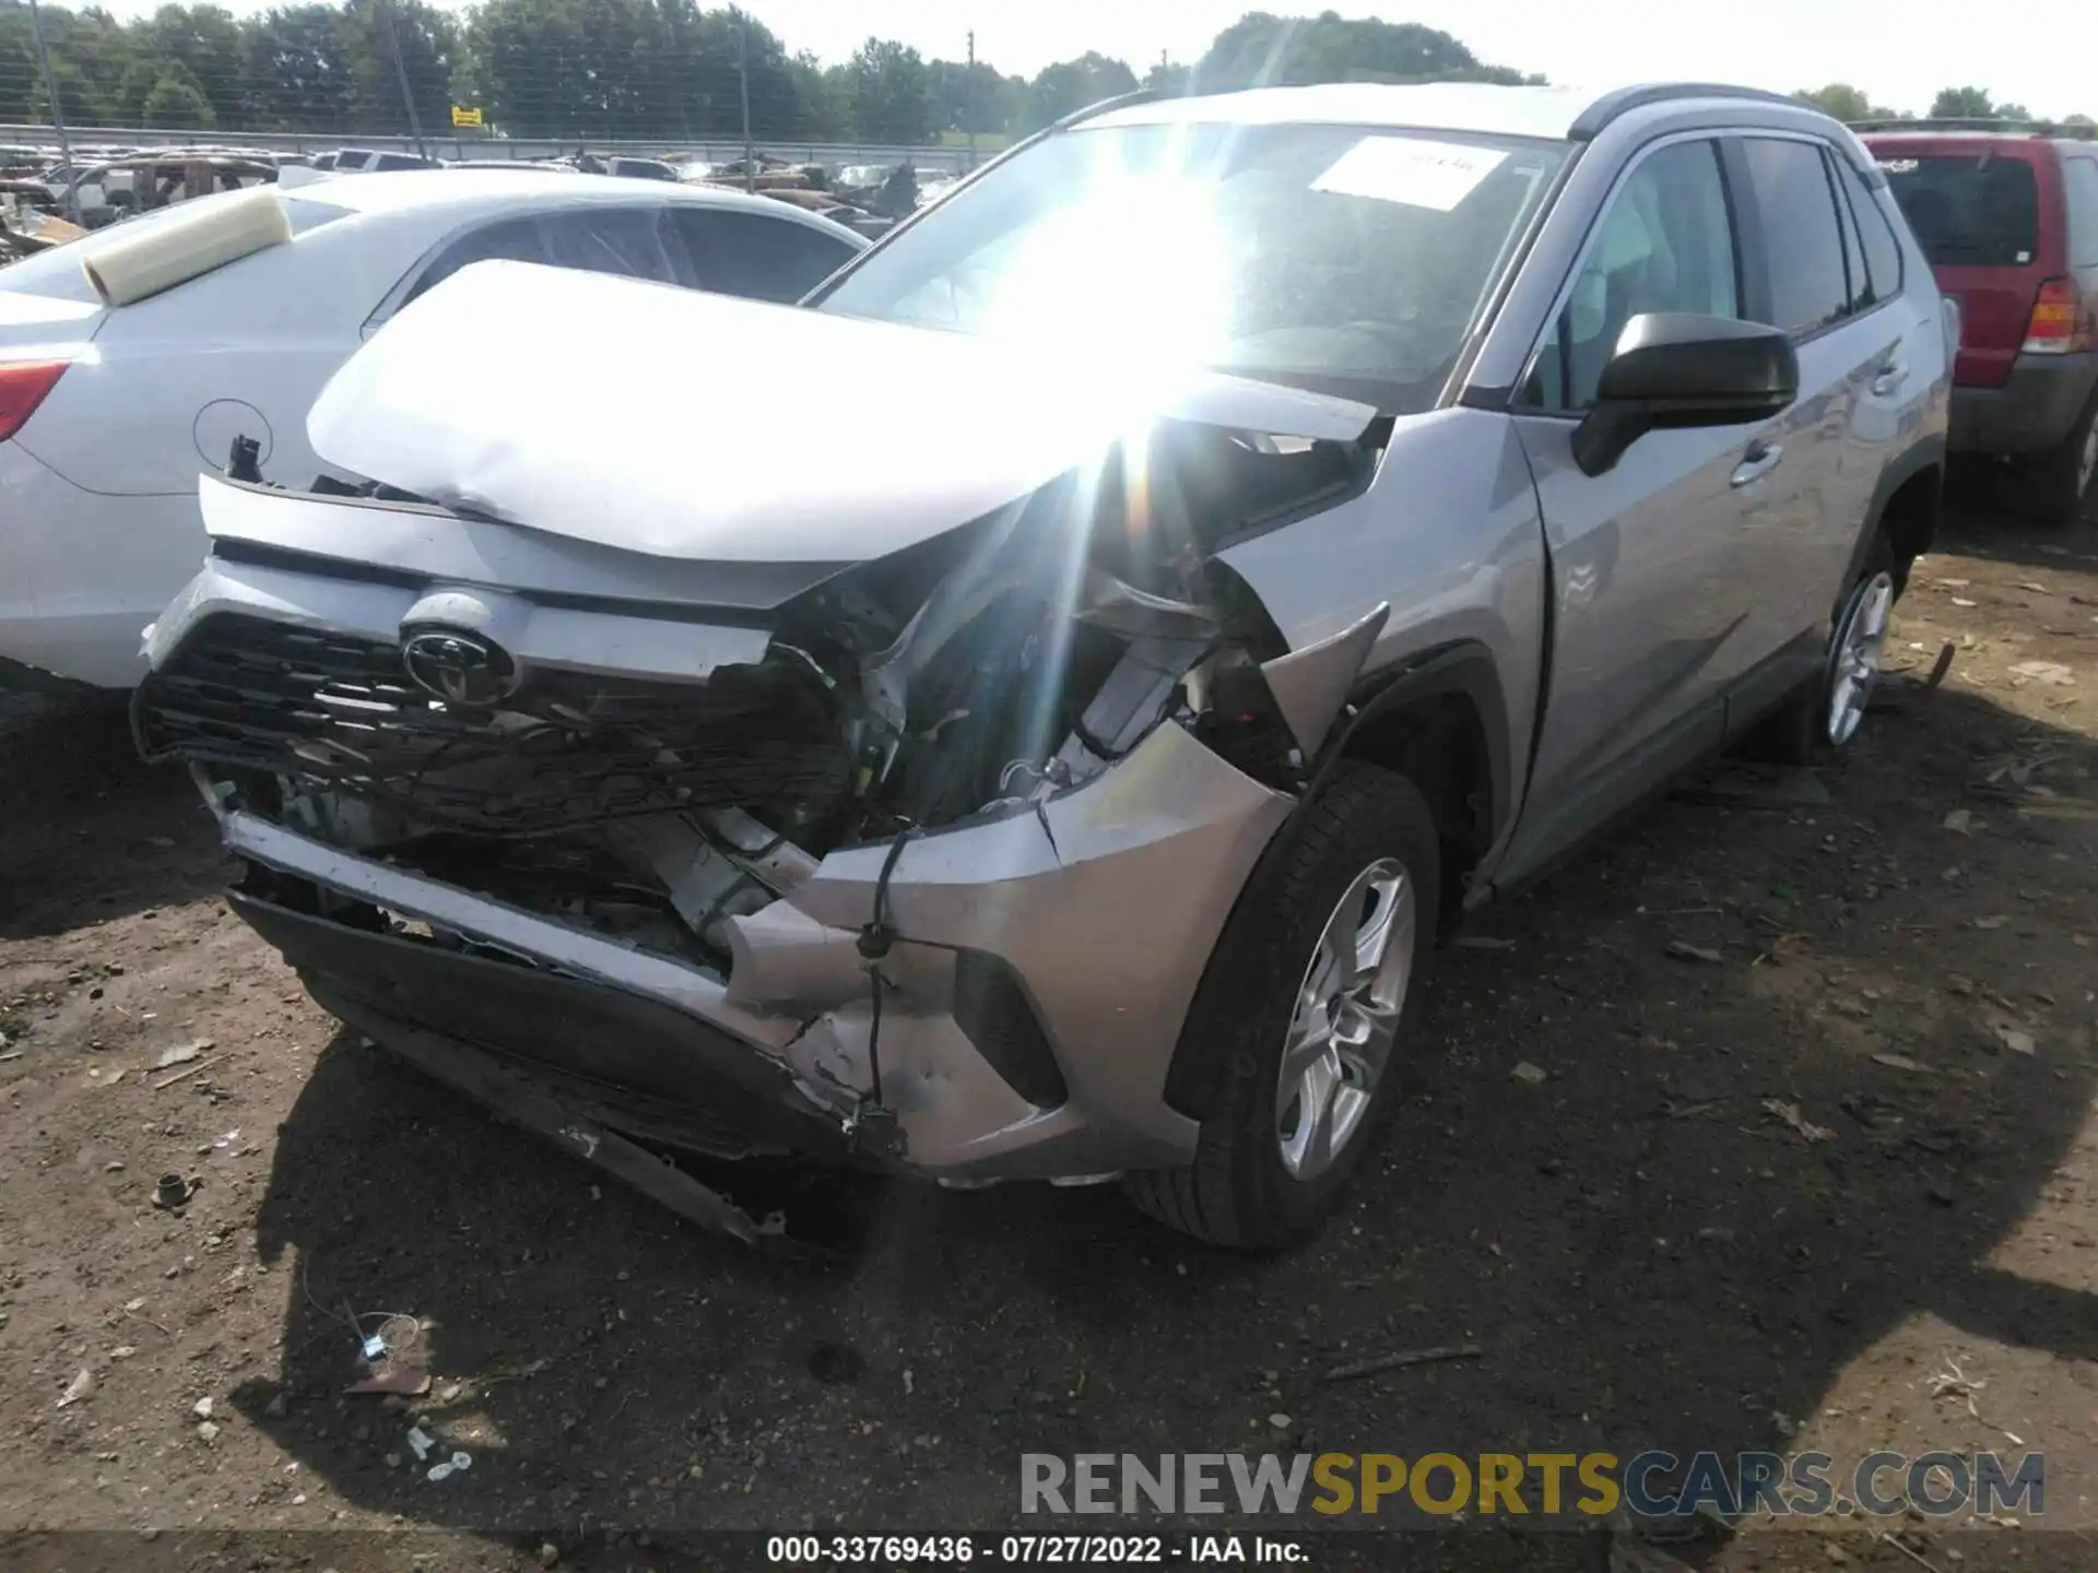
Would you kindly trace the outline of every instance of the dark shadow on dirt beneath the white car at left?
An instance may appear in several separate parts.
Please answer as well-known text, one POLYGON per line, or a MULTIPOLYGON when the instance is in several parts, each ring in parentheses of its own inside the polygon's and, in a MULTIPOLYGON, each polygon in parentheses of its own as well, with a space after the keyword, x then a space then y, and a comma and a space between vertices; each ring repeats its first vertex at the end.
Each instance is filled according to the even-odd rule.
POLYGON ((218 831, 185 770, 149 770, 124 694, 0 688, 0 938, 208 896, 218 831))

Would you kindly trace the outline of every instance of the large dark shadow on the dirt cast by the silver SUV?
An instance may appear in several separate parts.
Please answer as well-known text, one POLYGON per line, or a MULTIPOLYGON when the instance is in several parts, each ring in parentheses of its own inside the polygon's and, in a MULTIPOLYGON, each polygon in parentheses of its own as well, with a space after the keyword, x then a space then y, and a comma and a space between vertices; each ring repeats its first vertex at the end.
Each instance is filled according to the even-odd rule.
POLYGON ((2090 822, 1941 824, 2020 749, 2094 761, 1909 690, 1827 801, 1678 795, 1485 914, 1355 1204, 1282 1256, 1112 1189, 829 1177, 789 1212, 843 1260, 783 1269, 342 1036, 279 1133, 258 1237, 300 1288, 239 1403, 426 1525, 952 1527, 1011 1521, 1022 1451, 1783 1449, 1915 1317, 2098 1357, 2090 1296, 1991 1265, 2094 1080, 2090 822), (411 1409, 342 1395, 388 1311, 426 1319, 411 1409), (472 1468, 428 1481, 411 1422, 472 1468))

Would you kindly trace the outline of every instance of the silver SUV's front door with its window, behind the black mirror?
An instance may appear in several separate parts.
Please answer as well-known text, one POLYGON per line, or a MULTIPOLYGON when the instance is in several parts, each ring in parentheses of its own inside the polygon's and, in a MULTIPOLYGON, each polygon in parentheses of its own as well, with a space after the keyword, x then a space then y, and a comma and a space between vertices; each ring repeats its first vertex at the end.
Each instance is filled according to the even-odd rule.
POLYGON ((1752 659, 1741 526, 1771 464, 1758 428, 1655 430, 1599 476, 1571 436, 1641 313, 1746 317, 1718 141, 1645 151, 1618 182, 1517 403, 1553 617, 1544 726, 1508 879, 1550 862, 1718 747, 1752 659))

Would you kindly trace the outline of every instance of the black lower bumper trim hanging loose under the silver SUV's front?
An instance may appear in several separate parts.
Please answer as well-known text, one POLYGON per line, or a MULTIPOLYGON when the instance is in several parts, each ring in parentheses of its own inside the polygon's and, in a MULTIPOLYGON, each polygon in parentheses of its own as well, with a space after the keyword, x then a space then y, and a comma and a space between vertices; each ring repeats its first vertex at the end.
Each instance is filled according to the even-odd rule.
POLYGON ((850 1156, 783 1065, 669 1005, 245 891, 227 900, 325 1009, 380 1042, 413 1030, 474 1049, 608 1126, 720 1158, 850 1156))

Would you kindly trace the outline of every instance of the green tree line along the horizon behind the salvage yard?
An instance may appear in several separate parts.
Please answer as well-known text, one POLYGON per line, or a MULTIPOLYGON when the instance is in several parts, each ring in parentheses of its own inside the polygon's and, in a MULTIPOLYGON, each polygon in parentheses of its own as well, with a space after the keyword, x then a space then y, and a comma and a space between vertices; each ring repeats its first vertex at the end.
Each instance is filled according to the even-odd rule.
MULTIPOLYGON (((1341 80, 1544 82, 1479 61, 1418 23, 1248 13, 1196 61, 1139 73, 1085 52, 1032 78, 984 61, 925 59, 869 38, 825 63, 736 8, 697 0, 313 0, 235 17, 164 4, 120 23, 109 10, 42 8, 59 107, 76 126, 229 132, 401 134, 407 103, 428 132, 451 105, 529 138, 646 136, 923 145, 942 134, 1020 136, 1139 86, 1232 88, 1341 80), (403 92, 405 84, 405 92, 403 92)), ((1842 120, 1890 117, 1848 84, 1802 92, 1842 120)), ((2025 117, 1981 88, 1947 88, 1934 115, 2025 117)), ((50 99, 29 8, 0 0, 0 122, 46 124, 50 99)))

